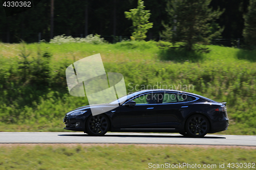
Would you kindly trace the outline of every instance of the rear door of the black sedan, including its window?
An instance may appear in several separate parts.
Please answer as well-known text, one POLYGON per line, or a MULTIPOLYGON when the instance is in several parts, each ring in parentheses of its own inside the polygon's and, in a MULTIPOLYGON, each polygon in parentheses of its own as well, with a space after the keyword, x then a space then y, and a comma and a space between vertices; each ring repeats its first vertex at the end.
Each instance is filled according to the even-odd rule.
POLYGON ((158 106, 158 128, 176 129, 192 109, 193 105, 190 104, 190 101, 196 100, 196 98, 174 92, 165 92, 162 95, 162 101, 158 106))

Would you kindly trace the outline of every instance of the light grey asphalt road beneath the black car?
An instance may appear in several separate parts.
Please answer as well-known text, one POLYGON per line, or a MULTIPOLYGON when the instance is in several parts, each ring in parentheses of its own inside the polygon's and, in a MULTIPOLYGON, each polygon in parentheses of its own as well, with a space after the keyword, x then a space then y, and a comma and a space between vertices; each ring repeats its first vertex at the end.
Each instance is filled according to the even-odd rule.
POLYGON ((256 136, 206 135, 184 137, 170 133, 106 133, 89 136, 81 132, 0 132, 0 143, 130 143, 130 144, 199 144, 256 147, 256 136))

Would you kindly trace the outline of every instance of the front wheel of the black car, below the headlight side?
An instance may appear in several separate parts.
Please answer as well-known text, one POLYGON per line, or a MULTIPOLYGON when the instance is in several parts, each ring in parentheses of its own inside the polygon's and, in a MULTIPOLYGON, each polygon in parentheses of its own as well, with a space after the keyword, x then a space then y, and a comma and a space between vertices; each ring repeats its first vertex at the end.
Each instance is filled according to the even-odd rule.
POLYGON ((89 116, 86 122, 86 132, 92 136, 103 136, 110 127, 109 119, 104 114, 89 116))

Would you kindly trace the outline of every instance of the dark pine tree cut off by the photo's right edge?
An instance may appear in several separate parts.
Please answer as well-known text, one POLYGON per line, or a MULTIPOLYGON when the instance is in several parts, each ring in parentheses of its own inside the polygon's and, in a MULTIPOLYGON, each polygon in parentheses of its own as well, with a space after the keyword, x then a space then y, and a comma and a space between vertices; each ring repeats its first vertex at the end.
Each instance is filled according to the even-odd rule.
POLYGON ((250 47, 256 47, 256 0, 250 0, 248 12, 244 15, 245 28, 243 36, 250 47))

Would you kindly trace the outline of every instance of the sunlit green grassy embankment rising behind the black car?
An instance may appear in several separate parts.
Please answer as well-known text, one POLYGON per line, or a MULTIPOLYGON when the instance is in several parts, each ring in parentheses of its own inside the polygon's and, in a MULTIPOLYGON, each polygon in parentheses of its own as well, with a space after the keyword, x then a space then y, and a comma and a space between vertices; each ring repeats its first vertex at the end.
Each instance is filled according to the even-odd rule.
POLYGON ((87 98, 68 93, 65 70, 74 61, 100 53, 106 72, 124 76, 127 92, 137 84, 137 89, 158 84, 227 102, 230 127, 220 134, 255 135, 256 52, 208 47, 210 53, 199 54, 160 49, 153 41, 34 43, 25 48, 0 43, 0 131, 64 131, 65 113, 88 105, 87 98), (190 90, 185 89, 189 85, 190 90))

